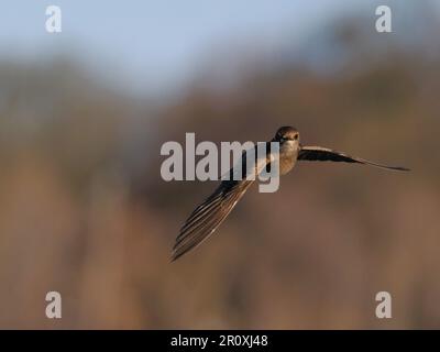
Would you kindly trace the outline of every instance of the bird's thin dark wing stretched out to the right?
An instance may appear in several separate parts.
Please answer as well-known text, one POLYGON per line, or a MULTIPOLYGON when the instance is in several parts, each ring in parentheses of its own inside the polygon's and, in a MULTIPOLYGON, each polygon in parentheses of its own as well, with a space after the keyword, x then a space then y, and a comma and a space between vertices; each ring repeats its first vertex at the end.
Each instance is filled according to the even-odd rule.
POLYGON ((400 166, 388 166, 366 161, 361 157, 353 157, 345 153, 337 152, 321 146, 302 146, 298 153, 298 161, 318 161, 318 162, 344 162, 344 163, 359 163, 364 165, 372 165, 375 167, 394 169, 399 172, 408 172, 409 168, 400 166))

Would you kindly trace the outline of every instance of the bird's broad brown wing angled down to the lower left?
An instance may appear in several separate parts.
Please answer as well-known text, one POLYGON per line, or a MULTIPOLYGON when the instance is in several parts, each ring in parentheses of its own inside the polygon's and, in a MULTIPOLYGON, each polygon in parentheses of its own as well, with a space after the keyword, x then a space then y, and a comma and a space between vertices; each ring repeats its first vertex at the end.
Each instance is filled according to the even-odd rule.
MULTIPOLYGON (((248 188, 254 183, 255 177, 253 177, 253 179, 245 177, 251 170, 246 167, 246 164, 243 166, 246 153, 250 152, 255 153, 255 150, 243 153, 241 163, 229 172, 230 179, 223 180, 216 191, 199 205, 185 221, 173 248, 172 261, 177 260, 179 256, 199 245, 216 231, 241 197, 243 197, 248 188), (242 179, 233 179, 238 178, 237 173, 242 175, 242 179)), ((270 162, 271 155, 261 160, 255 157, 255 164, 252 165, 255 173, 254 176, 258 175, 270 162)))

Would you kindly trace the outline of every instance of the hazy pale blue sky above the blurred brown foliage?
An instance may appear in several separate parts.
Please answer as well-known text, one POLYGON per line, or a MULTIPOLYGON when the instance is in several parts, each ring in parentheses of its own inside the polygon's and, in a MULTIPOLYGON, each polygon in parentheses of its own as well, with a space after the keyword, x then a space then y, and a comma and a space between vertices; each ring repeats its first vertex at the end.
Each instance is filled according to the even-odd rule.
POLYGON ((346 2, 2 0, 0 55, 40 59, 63 52, 128 87, 166 89, 190 76, 217 43, 271 42, 287 35, 295 41, 359 4, 346 2), (45 31, 50 4, 62 9, 59 34, 45 31))

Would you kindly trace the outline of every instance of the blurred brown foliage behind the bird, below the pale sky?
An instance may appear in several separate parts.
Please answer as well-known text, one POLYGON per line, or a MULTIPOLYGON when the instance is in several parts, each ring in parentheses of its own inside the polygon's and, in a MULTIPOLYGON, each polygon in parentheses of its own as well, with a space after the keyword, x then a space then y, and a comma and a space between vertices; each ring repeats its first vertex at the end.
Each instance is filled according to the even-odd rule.
POLYGON ((2 62, 0 327, 439 328, 439 53, 427 37, 421 51, 350 25, 332 33, 339 67, 285 53, 233 87, 196 79, 161 105, 66 61, 2 62), (216 184, 163 182, 161 145, 186 132, 265 141, 285 124, 304 144, 413 172, 300 164, 169 263, 216 184), (45 318, 50 290, 61 320, 45 318), (375 317, 381 290, 391 320, 375 317))

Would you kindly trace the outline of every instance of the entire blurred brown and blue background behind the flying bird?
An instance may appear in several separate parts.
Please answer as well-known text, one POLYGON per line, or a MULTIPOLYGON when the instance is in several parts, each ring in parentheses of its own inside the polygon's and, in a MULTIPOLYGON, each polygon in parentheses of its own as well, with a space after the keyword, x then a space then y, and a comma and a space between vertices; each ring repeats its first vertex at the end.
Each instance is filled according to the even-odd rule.
POLYGON ((439 16, 428 0, 2 1, 0 328, 440 328, 439 16), (413 172, 301 163, 169 263, 217 183, 162 180, 161 145, 286 124, 413 172))

